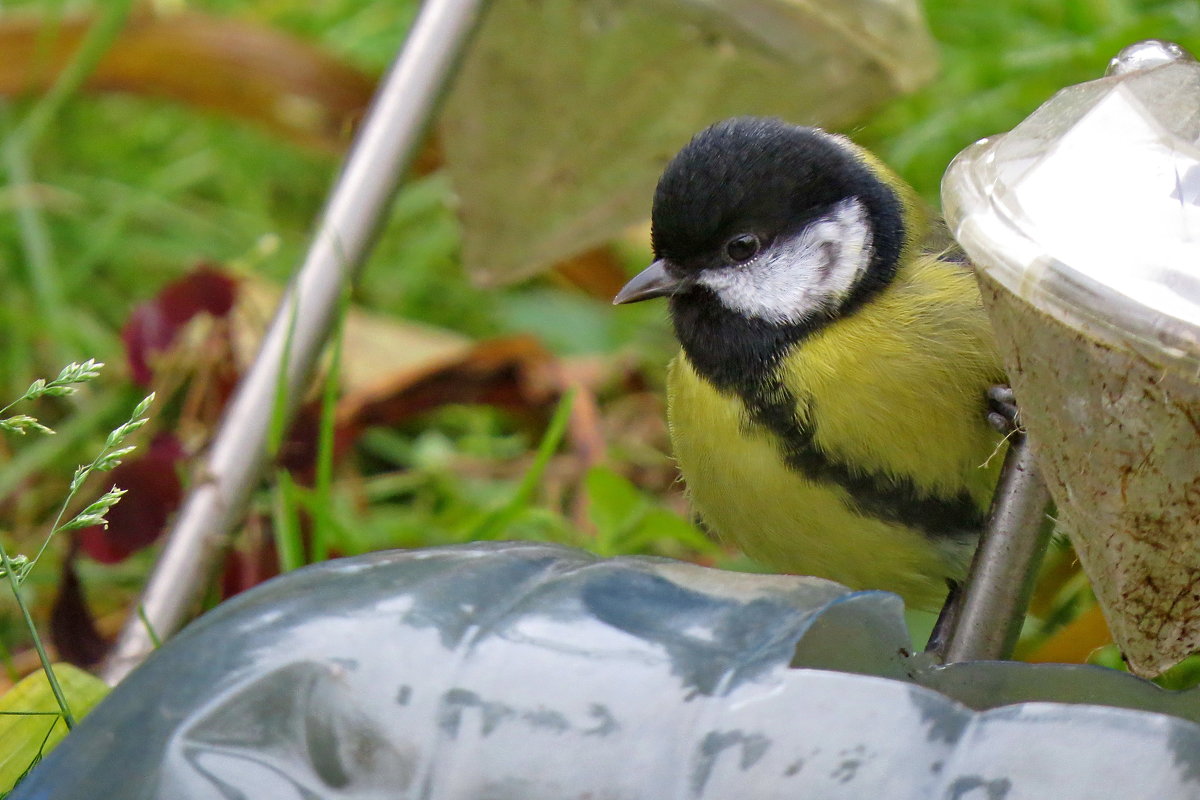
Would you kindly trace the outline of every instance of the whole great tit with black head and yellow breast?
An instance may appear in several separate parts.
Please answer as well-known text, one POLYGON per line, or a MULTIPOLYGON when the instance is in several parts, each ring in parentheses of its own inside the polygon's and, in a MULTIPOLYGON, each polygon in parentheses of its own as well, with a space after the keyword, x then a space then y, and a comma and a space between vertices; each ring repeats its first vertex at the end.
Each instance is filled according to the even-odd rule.
POLYGON ((652 217, 655 260, 614 302, 670 297, 671 441, 706 525, 772 569, 936 608, 1002 462, 970 265, 924 249, 919 199, 869 152, 775 119, 696 134, 652 217))

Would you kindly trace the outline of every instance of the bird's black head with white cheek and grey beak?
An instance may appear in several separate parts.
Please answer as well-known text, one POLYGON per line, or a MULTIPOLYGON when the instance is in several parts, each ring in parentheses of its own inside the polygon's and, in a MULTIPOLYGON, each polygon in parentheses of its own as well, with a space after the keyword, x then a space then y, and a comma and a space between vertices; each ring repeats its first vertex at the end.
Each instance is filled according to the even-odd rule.
POLYGON ((696 134, 659 179, 652 216, 656 260, 616 301, 670 296, 702 371, 774 360, 853 312, 892 281, 906 240, 901 199, 853 144, 775 119, 696 134))

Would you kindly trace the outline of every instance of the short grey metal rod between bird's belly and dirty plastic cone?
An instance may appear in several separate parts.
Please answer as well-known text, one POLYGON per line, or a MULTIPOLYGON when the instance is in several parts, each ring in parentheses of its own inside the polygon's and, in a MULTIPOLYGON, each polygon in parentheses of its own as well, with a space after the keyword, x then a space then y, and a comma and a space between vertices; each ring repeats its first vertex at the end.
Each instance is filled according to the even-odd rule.
POLYGON ((946 640, 934 646, 943 663, 1012 655, 1052 530, 1049 503, 1028 440, 1016 432, 966 585, 943 612, 946 640))

